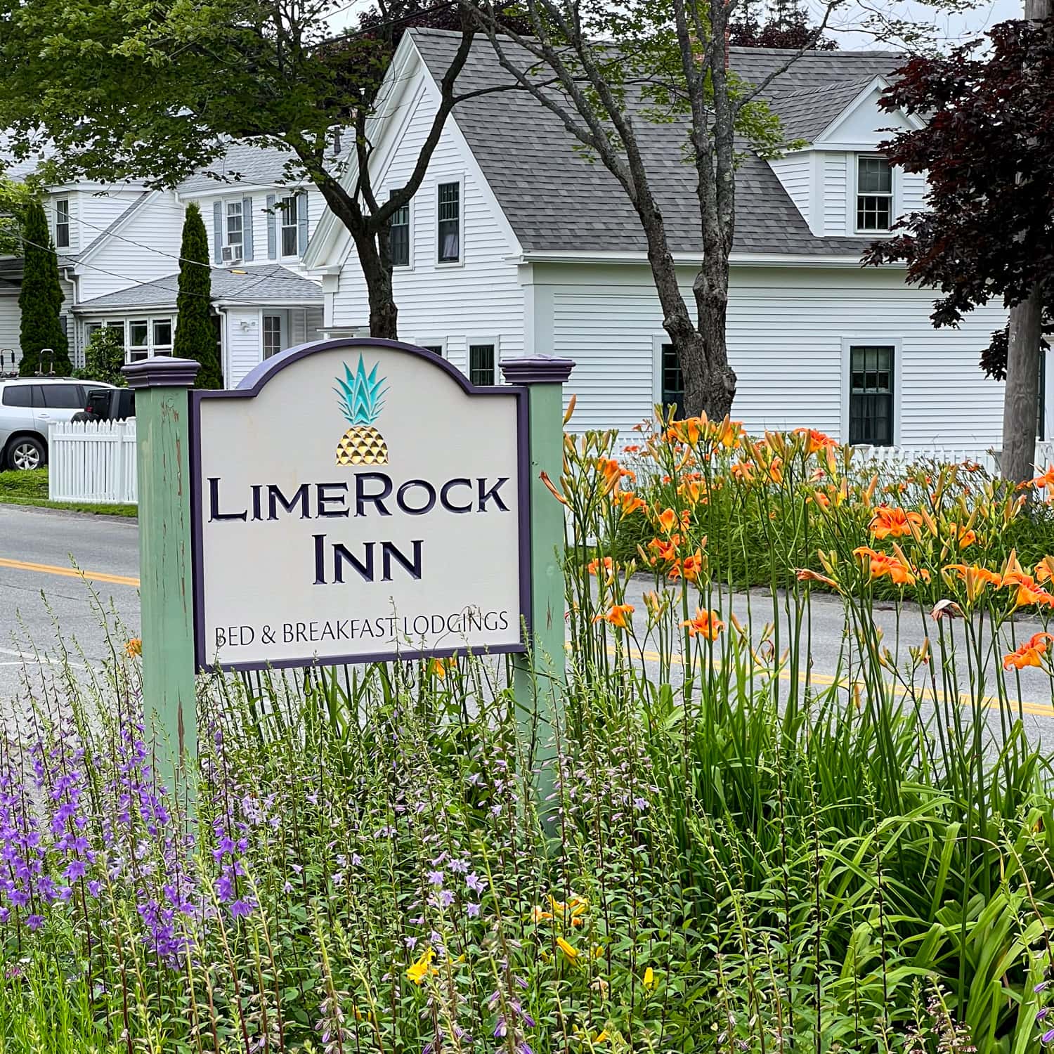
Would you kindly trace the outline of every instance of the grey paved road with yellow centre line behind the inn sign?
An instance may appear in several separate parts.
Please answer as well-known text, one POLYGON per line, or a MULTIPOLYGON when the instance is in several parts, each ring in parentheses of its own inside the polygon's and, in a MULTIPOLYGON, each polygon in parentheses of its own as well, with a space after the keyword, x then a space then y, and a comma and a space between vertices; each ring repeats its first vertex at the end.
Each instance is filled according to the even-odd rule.
MULTIPOLYGON (((75 653, 75 661, 97 664, 110 653, 104 629, 109 620, 110 639, 122 646, 129 637, 139 635, 138 539, 134 521, 101 519, 51 510, 24 509, 0 505, 0 701, 22 695, 24 666, 40 676, 35 651, 50 655, 60 649, 75 653), (81 569, 81 578, 76 568, 81 569), (115 628, 116 627, 116 628, 115 628)), ((631 584, 630 602, 637 611, 635 626, 641 639, 642 661, 655 671, 655 644, 645 639, 641 594, 650 583, 639 579, 631 584)), ((782 606, 782 601, 777 604, 782 606)), ((749 605, 754 638, 773 619, 773 600, 764 593, 737 594, 726 600, 723 614, 730 608, 747 621, 749 605)), ((892 606, 877 613, 885 632, 884 642, 896 649, 896 618, 892 606)), ((780 611, 786 632, 788 617, 780 611)), ((812 605, 812 660, 816 683, 831 683, 839 670, 843 653, 844 612, 832 597, 816 594, 812 605)), ((961 632, 961 627, 956 627, 961 632)), ((1017 641, 1027 639, 1041 627, 1031 622, 1015 626, 1017 641)), ((906 658, 907 647, 921 644, 924 635, 936 637, 929 620, 917 611, 901 620, 899 653, 906 658)), ((999 655, 1006 647, 998 647, 999 655)), ((990 660, 993 662, 994 660, 990 660)), ((43 670, 53 670, 44 664, 43 670)), ((674 678, 678 679, 675 669, 674 678)), ((784 675, 784 679, 789 675, 784 675)), ((965 687, 963 682, 962 687, 965 687)), ((1016 689, 1011 685, 1016 696, 1016 689)), ((991 683, 988 694, 994 695, 991 683)), ((1021 699, 1026 727, 1030 736, 1045 737, 1054 745, 1054 705, 1051 682, 1039 670, 1028 669, 1021 676, 1021 699)), ((985 706, 993 729, 999 726, 998 704, 985 706)))

